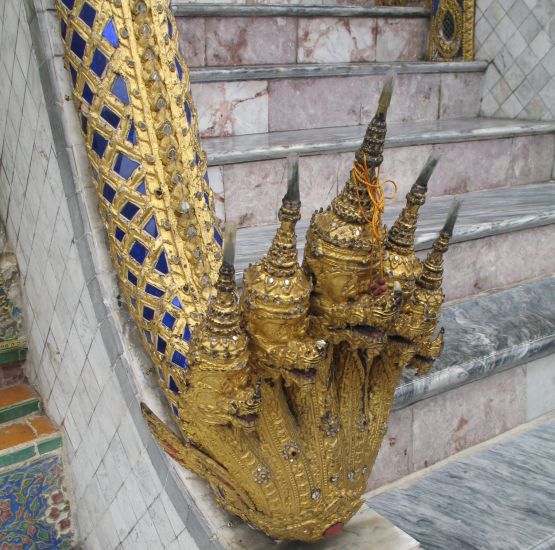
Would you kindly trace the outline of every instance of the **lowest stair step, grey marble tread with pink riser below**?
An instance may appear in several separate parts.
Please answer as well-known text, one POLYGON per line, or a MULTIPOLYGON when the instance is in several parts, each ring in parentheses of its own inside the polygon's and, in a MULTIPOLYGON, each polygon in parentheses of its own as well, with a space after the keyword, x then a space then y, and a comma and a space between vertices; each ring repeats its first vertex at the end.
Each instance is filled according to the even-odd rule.
POLYGON ((444 307, 444 351, 398 384, 369 488, 555 409, 554 293, 547 277, 444 307))

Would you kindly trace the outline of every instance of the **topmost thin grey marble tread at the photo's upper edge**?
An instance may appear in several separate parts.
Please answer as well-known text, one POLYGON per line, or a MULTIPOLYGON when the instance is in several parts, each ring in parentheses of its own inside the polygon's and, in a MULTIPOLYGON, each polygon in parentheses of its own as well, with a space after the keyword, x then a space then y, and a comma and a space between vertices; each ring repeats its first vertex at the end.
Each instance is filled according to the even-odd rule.
POLYGON ((420 7, 310 6, 272 4, 196 4, 172 0, 176 17, 428 17, 420 7))

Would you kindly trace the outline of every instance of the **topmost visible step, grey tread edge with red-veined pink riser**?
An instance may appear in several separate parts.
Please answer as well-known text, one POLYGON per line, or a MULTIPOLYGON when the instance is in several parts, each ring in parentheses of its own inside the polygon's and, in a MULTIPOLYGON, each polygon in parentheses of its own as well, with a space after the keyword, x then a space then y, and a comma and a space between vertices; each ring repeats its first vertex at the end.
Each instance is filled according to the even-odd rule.
POLYGON ((187 65, 417 61, 429 10, 173 2, 187 65))

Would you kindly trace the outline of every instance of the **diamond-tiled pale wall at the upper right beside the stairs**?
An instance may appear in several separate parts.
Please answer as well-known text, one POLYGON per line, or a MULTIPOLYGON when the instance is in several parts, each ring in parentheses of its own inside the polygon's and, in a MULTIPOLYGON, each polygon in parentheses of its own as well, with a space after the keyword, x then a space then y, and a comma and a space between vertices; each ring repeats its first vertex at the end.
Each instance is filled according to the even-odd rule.
POLYGON ((482 115, 555 119, 553 0, 477 0, 476 59, 492 60, 482 115))

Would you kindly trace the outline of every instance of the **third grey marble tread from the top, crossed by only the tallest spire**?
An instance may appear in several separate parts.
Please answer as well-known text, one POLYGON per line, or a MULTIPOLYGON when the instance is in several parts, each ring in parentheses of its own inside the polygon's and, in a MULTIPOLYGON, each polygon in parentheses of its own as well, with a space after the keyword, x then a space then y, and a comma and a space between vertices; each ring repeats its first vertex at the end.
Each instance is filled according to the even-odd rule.
MULTIPOLYGON (((285 158, 291 154, 346 153, 356 151, 365 125, 338 126, 205 138, 203 147, 211 166, 285 158)), ((555 121, 462 118, 388 124, 386 147, 456 143, 555 132, 555 121)))

